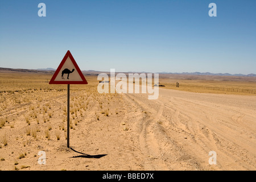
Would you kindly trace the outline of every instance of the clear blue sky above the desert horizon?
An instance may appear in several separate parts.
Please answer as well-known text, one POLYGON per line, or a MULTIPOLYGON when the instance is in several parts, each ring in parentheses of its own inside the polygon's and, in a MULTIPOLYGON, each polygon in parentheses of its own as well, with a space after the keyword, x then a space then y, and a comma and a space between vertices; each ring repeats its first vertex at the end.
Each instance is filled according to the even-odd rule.
POLYGON ((256 73, 255 0, 0 1, 0 67, 256 73), (38 4, 46 4, 46 17, 38 4), (210 17, 209 3, 217 17, 210 17))

